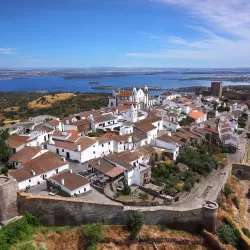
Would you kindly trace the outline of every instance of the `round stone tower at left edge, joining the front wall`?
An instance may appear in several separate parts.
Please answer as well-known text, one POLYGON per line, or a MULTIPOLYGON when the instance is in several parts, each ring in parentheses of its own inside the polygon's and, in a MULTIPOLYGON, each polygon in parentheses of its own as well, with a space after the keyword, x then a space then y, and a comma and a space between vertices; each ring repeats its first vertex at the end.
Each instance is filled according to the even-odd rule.
POLYGON ((17 182, 0 175, 0 224, 18 215, 17 182))

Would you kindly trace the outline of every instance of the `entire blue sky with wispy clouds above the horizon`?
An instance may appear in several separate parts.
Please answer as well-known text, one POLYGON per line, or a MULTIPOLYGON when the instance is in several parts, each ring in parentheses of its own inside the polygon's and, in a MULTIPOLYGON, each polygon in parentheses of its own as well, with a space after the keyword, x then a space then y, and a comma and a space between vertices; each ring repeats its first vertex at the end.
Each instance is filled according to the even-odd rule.
POLYGON ((1 0, 0 67, 250 67, 249 0, 1 0))

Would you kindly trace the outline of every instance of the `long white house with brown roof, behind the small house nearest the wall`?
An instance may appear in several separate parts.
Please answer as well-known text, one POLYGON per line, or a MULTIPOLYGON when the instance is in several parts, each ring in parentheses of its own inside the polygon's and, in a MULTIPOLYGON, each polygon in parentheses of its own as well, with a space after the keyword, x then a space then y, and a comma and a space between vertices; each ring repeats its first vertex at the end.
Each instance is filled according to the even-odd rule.
POLYGON ((18 182, 18 189, 36 186, 48 178, 68 169, 69 165, 65 158, 47 151, 28 162, 21 168, 10 170, 9 175, 18 182))

